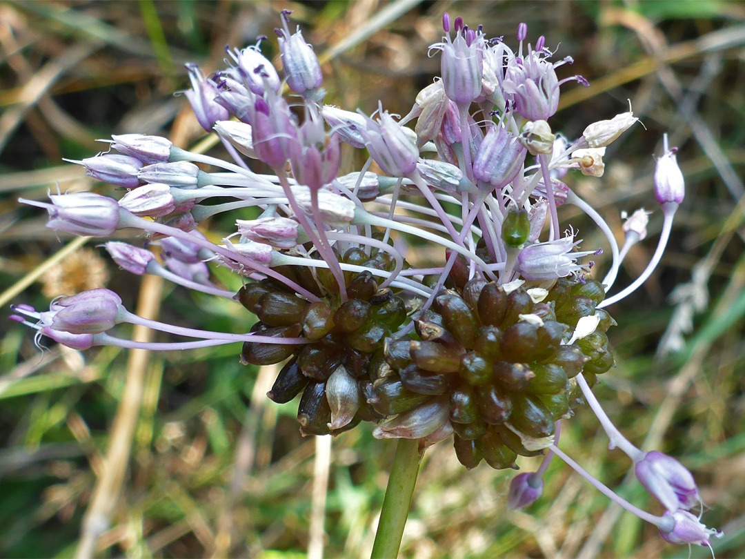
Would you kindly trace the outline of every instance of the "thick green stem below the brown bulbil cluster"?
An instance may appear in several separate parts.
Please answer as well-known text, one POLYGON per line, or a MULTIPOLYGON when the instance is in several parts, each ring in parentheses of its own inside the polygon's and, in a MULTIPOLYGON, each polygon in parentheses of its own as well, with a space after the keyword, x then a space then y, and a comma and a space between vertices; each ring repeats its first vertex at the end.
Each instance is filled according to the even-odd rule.
POLYGON ((399 439, 370 559, 391 559, 399 555, 416 475, 419 473, 419 458, 418 439, 399 439))

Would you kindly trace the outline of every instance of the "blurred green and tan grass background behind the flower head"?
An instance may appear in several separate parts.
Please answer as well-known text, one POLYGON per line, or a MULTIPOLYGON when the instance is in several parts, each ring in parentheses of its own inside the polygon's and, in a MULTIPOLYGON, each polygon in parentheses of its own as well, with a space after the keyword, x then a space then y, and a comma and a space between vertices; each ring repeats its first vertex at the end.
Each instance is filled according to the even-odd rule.
MULTIPOLYGON (((261 34, 270 37, 265 54, 275 57, 272 30, 282 8, 294 10, 317 52, 329 54, 326 101, 351 110, 370 113, 380 99, 391 112, 408 113, 439 72, 427 47, 440 37, 443 10, 508 40, 527 22, 533 41, 545 34, 547 45, 559 45, 557 56, 574 57, 560 77, 577 73, 591 87, 565 86, 554 131, 574 138, 630 100, 644 127, 609 148, 602 179, 571 177, 619 238, 621 210, 654 210, 650 236, 631 251, 618 288, 654 250, 662 215, 652 194, 653 154, 662 153, 662 133, 671 134, 687 196, 659 270, 610 309, 620 325, 609 332, 618 366, 595 392, 633 442, 676 455, 694 471, 711 507, 707 525, 726 533, 714 542, 717 557, 744 556, 741 2, 3 2, 2 306, 43 309, 50 297, 106 285, 128 308, 162 320, 247 331, 252 319, 239 306, 119 271, 95 242, 71 246, 72 238, 46 229, 45 216, 16 198, 45 198, 57 184, 110 194, 62 158, 95 154, 95 139, 111 133, 161 134, 182 147, 202 140, 186 99, 173 95, 187 84, 183 63, 212 72, 223 66, 225 45, 253 44, 261 34)), ((345 172, 353 163, 347 159, 345 172)), ((560 215, 579 228, 585 246, 601 244, 571 209, 560 215)), ((142 242, 131 235, 118 232, 120 240, 142 242)), ((601 271, 606 265, 597 259, 601 271)), ((224 270, 215 274, 238 287, 224 270)), ((0 556, 74 555, 83 525, 89 552, 100 556, 301 557, 309 546, 317 556, 319 544, 329 557, 369 554, 393 457, 393 445, 374 440, 369 425, 335 438, 330 457, 318 454, 317 442, 299 435, 297 402, 279 406, 264 397, 275 371, 242 366, 234 346, 147 356, 53 345, 42 355, 28 329, 5 320, 0 329, 0 556), (115 473, 104 473, 107 452, 115 473), (93 522, 85 521, 89 508, 98 514, 93 522)), ((606 446, 588 409, 562 429, 562 448, 577 461, 636 505, 662 513, 626 478, 627 458, 606 446)), ((534 469, 533 460, 523 459, 523 469, 534 469)), ((688 556, 609 508, 557 460, 544 497, 508 513, 511 476, 486 464, 466 472, 447 442, 429 449, 402 555, 688 556)), ((694 549, 694 557, 708 555, 694 549)))

